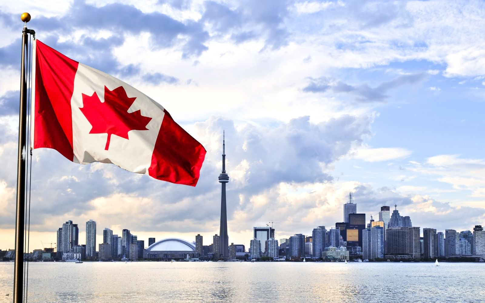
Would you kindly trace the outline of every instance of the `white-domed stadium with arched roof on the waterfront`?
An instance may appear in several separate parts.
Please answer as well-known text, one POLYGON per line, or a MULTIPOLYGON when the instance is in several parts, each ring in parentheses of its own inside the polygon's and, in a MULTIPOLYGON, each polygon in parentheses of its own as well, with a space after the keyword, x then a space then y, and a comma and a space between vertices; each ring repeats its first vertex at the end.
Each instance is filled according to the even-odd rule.
POLYGON ((167 238, 162 239, 148 246, 144 252, 143 257, 148 259, 184 259, 189 256, 194 256, 195 246, 189 241, 167 238))

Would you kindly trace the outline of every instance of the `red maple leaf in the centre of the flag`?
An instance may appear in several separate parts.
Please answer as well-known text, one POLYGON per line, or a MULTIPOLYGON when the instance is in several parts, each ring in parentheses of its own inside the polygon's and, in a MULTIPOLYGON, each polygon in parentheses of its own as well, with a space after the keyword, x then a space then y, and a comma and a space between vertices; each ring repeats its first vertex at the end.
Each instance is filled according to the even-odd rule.
POLYGON ((92 128, 90 134, 108 134, 105 150, 110 147, 111 135, 129 139, 130 130, 147 130, 146 125, 152 118, 142 116, 140 110, 128 112, 136 97, 129 98, 123 86, 110 91, 104 87, 104 102, 96 92, 93 96, 82 94, 82 107, 79 109, 88 119, 92 128))

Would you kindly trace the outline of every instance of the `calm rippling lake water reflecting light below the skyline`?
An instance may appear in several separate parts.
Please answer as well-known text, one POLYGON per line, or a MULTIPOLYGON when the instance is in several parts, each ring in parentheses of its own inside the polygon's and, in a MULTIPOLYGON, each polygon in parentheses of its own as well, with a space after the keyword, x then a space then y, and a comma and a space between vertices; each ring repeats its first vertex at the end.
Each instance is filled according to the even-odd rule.
POLYGON ((484 278, 484 263, 34 262, 28 302, 485 302, 484 278))

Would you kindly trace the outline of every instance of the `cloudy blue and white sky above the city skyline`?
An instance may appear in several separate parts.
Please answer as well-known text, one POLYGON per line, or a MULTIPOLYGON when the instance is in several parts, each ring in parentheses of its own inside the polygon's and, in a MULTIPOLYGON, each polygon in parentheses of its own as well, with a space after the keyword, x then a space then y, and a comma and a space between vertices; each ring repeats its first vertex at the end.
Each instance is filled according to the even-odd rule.
MULTIPOLYGON (((204 245, 311 235, 383 205, 422 228, 485 225, 482 1, 74 0, 0 4, 0 249, 15 239, 22 12, 36 38, 156 100, 207 149, 196 187, 33 150, 30 248, 67 220, 204 245), (272 222, 272 223, 270 223, 272 222)), ((42 244, 41 243, 44 243, 42 244)), ((48 244, 46 244, 48 243, 48 244)))

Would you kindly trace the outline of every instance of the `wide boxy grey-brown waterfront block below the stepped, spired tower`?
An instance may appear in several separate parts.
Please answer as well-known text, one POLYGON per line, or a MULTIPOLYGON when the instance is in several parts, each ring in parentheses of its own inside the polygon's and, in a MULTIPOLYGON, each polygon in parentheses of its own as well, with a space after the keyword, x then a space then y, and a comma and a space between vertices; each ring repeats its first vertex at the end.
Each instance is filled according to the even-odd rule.
POLYGON ((420 227, 389 227, 386 233, 386 255, 407 255, 412 259, 420 258, 420 227))

